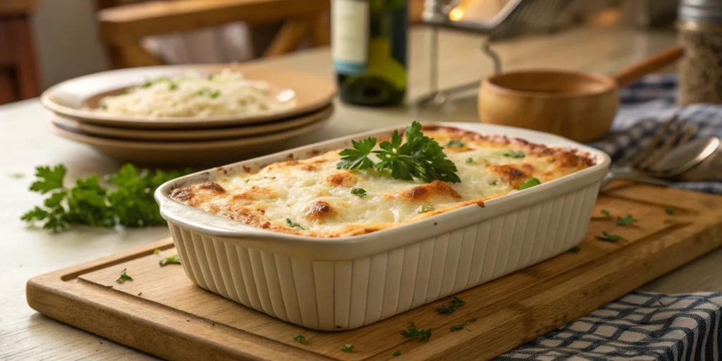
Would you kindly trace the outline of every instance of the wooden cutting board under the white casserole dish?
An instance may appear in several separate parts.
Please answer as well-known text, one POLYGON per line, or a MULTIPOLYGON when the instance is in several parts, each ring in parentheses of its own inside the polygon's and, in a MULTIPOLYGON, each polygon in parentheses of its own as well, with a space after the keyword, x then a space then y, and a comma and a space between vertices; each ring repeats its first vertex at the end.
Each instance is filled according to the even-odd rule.
POLYGON ((437 313, 449 301, 439 300, 352 331, 303 329, 202 290, 181 266, 159 266, 162 257, 175 254, 170 240, 30 279, 27 303, 46 316, 170 360, 396 360, 396 350, 399 360, 486 360, 722 245, 720 196, 619 185, 601 195, 596 208, 595 214, 609 209, 639 221, 621 227, 614 220, 593 220, 580 252, 461 292, 457 296, 466 305, 455 313, 437 313), (668 205, 674 215, 666 214, 668 205), (602 231, 629 242, 596 240, 602 231), (123 269, 132 282, 116 283, 123 269), (451 331, 474 317, 463 330, 451 331), (432 329, 429 342, 401 335, 412 321, 432 329), (297 334, 305 336, 303 344, 294 341, 297 334), (342 352, 344 344, 355 349, 342 352))

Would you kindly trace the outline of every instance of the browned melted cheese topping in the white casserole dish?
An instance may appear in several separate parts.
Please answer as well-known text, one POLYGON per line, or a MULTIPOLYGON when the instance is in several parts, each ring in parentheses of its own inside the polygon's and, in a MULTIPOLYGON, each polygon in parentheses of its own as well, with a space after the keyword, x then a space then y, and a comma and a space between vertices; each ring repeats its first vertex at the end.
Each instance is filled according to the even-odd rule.
POLYGON ((461 183, 401 181, 376 170, 339 170, 342 149, 261 170, 223 175, 178 188, 170 197, 248 225, 315 237, 342 237, 414 222, 461 206, 516 192, 594 164, 574 149, 550 148, 504 136, 426 126, 445 146, 461 183))

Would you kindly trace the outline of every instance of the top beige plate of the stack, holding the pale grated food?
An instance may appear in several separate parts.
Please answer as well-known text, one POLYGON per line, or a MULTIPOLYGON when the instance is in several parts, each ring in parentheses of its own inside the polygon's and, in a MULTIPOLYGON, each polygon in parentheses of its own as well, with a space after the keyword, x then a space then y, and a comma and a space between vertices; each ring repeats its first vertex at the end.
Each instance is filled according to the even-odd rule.
POLYGON ((52 110, 58 116, 103 126, 142 129, 198 129, 218 126, 238 126, 291 118, 292 116, 309 113, 329 105, 334 95, 336 95, 336 84, 329 79, 313 74, 288 69, 209 64, 148 66, 144 68, 103 71, 101 73, 61 82, 45 90, 43 95, 40 96, 40 102, 45 105, 45 108, 52 110), (289 109, 256 116, 145 118, 118 116, 86 109, 96 108, 98 100, 106 95, 116 95, 128 87, 142 84, 147 79, 178 77, 186 74, 188 71, 212 74, 221 71, 223 68, 241 71, 246 79, 266 82, 274 94, 278 97, 292 96, 295 104, 289 109))

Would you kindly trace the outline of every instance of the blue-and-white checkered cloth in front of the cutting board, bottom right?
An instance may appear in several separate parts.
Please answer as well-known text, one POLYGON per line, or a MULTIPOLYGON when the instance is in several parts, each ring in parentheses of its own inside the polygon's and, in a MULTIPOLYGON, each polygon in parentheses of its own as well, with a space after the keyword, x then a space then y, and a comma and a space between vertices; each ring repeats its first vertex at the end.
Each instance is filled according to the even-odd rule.
POLYGON ((635 291, 496 360, 722 360, 722 294, 635 291))

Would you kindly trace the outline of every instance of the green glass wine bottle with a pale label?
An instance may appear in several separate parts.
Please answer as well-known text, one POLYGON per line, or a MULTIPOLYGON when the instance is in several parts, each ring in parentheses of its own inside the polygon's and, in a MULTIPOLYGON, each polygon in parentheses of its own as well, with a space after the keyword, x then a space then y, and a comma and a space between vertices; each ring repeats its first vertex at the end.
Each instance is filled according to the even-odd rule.
POLYGON ((331 0, 331 53, 341 100, 396 105, 406 95, 406 0, 331 0))

